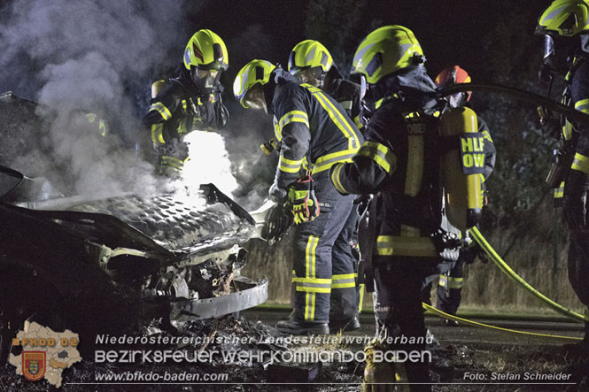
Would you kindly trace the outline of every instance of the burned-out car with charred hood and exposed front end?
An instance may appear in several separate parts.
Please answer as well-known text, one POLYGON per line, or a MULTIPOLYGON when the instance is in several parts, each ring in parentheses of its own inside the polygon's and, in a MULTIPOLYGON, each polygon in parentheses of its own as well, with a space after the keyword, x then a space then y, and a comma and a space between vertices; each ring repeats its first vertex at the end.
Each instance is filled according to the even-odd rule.
POLYGON ((26 320, 74 330, 83 346, 98 333, 154 320, 178 329, 266 300, 267 280, 239 273, 256 220, 213 184, 190 197, 35 200, 48 188, 0 166, 4 360, 26 320))

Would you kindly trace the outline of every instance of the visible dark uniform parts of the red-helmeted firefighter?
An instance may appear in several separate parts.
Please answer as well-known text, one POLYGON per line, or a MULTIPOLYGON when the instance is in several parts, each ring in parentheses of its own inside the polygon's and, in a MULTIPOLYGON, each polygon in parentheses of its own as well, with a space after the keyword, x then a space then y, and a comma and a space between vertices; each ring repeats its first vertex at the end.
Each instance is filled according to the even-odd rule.
MULTIPOLYGON (((486 181, 495 168, 497 150, 492 142, 491 134, 489 134, 489 127, 487 127, 484 119, 477 116, 477 123, 478 132, 484 135, 484 174, 482 175, 484 176, 484 181, 486 181)), ((423 302, 430 304, 431 285, 439 276, 436 308, 449 314, 456 314, 461 304, 464 264, 471 263, 474 260, 474 256, 471 250, 464 248, 461 249, 460 256, 455 262, 442 261, 438 265, 437 271, 424 281, 423 302)))

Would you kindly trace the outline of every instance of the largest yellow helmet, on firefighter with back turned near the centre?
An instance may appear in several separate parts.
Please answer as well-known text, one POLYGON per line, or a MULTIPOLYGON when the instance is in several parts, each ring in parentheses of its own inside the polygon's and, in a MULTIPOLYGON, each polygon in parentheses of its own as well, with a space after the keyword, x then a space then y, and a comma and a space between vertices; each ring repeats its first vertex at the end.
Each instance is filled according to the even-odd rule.
POLYGON ((377 28, 360 42, 353 56, 352 72, 361 73, 370 84, 409 65, 425 60, 422 46, 407 27, 377 28))

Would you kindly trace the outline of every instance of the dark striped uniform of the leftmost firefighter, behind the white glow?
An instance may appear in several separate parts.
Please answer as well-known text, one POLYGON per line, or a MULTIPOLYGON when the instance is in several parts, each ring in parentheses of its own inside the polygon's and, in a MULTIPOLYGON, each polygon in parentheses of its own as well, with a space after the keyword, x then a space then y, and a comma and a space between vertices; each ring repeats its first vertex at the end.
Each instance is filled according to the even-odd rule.
POLYGON ((180 77, 170 79, 153 98, 143 124, 151 127, 151 142, 158 150, 158 171, 180 175, 189 158, 183 137, 195 129, 221 129, 227 125, 229 111, 221 101, 221 85, 210 94, 201 94, 182 69, 180 77))

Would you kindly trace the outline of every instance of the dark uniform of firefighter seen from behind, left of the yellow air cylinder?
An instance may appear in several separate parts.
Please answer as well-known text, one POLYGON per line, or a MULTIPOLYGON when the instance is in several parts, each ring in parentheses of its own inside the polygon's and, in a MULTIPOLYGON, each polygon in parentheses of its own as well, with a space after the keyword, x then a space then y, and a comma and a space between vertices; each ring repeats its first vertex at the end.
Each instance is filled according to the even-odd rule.
MULTIPOLYGON (((376 194, 378 326, 389 336, 421 338, 396 350, 424 350, 422 281, 446 250, 430 237, 442 220, 435 87, 424 67, 411 66, 381 88, 387 95, 376 102, 366 142, 353 163, 331 169, 331 181, 342 194, 376 194)), ((457 253, 446 250, 453 259, 457 253)), ((410 382, 429 381, 427 364, 405 365, 410 382)))

